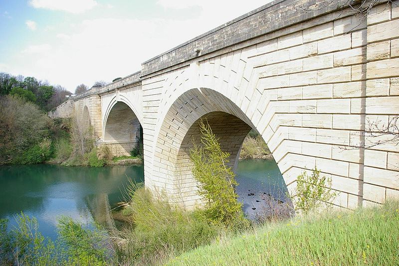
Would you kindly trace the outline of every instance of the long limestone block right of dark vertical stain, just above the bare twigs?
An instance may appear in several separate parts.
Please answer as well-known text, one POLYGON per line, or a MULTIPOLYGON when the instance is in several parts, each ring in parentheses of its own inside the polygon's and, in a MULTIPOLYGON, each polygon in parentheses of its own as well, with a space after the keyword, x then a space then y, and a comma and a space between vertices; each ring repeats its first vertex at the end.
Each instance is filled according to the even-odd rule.
POLYGON ((399 114, 399 96, 366 98, 368 114, 399 114))

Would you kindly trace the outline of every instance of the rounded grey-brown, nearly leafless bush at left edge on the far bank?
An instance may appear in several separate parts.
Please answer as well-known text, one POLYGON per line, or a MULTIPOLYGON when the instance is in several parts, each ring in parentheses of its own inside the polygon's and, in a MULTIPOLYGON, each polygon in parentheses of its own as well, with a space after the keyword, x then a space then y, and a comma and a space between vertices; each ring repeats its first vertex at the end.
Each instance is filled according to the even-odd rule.
POLYGON ((18 96, 0 97, 0 163, 24 153, 41 152, 35 145, 48 136, 49 121, 36 105, 18 96))

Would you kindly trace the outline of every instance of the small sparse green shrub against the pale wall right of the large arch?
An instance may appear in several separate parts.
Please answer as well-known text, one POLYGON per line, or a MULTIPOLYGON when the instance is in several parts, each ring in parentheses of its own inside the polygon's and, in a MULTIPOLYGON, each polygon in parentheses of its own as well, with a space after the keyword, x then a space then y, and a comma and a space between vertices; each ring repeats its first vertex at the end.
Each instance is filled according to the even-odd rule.
POLYGON ((331 189, 331 178, 320 177, 320 170, 315 168, 312 174, 305 171, 297 178, 295 195, 291 195, 296 211, 308 214, 316 211, 324 203, 336 198, 336 192, 331 189))

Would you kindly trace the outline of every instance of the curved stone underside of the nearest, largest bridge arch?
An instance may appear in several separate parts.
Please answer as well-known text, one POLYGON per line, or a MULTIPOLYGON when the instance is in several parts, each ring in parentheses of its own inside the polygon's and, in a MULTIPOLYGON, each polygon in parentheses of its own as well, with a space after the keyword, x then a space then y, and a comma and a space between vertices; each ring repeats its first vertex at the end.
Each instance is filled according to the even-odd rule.
MULTIPOLYGON (((230 153, 230 166, 236 167, 239 152, 250 129, 262 133, 252 120, 229 98, 208 88, 182 93, 163 120, 154 152, 153 178, 173 191, 172 198, 186 207, 195 206, 200 197, 190 161, 193 140, 200 142, 198 122, 206 119, 219 138, 223 151, 230 153)), ((283 149, 284 144, 281 144, 283 149)), ((287 182, 287 181, 286 181, 287 182)), ((147 184, 148 185, 148 184, 147 184)), ((164 188, 159 188, 164 189, 164 188)))

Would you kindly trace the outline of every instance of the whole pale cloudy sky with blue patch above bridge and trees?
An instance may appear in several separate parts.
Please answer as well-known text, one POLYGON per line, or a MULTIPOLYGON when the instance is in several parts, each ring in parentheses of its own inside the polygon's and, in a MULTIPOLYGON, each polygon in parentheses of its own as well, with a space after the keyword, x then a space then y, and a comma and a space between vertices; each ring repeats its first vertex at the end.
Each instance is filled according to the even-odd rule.
POLYGON ((141 63, 271 0, 0 0, 0 72, 69 91, 141 63))

